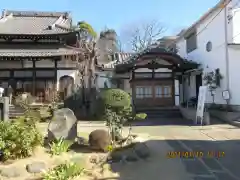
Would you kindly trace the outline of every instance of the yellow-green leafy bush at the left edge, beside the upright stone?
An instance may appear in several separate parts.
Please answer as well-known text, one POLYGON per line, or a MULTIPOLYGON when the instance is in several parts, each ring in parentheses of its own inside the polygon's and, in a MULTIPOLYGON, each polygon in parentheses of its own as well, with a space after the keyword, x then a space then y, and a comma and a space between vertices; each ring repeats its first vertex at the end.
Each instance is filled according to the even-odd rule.
POLYGON ((34 148, 43 144, 43 136, 33 124, 25 123, 24 117, 14 122, 0 122, 0 149, 4 160, 25 158, 34 148))

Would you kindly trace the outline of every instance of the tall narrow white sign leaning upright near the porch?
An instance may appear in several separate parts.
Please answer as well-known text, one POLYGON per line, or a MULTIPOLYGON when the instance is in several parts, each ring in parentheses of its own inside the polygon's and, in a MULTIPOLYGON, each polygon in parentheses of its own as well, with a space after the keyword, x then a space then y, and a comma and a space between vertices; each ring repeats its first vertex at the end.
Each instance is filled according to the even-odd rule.
POLYGON ((204 113, 204 104, 207 95, 207 86, 200 86, 199 87, 199 94, 198 94, 198 104, 197 104, 197 113, 196 113, 196 124, 198 121, 201 121, 201 125, 203 123, 203 113, 204 113))

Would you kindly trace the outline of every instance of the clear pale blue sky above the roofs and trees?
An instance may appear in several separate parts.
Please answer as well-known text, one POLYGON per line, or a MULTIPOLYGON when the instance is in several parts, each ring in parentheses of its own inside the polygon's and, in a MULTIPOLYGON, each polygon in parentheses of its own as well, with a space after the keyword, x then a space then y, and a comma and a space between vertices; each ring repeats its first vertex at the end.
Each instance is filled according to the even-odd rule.
POLYGON ((70 11, 73 20, 86 21, 99 32, 113 28, 121 33, 131 24, 157 20, 175 35, 190 26, 219 0, 1 0, 9 10, 70 11))

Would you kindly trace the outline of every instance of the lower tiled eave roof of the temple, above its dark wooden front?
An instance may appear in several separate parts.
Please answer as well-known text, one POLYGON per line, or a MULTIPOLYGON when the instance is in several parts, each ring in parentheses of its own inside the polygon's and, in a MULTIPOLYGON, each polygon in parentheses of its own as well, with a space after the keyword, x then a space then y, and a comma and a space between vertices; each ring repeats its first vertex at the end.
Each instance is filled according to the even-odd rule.
POLYGON ((41 57, 78 54, 69 46, 59 45, 0 45, 0 57, 41 57))

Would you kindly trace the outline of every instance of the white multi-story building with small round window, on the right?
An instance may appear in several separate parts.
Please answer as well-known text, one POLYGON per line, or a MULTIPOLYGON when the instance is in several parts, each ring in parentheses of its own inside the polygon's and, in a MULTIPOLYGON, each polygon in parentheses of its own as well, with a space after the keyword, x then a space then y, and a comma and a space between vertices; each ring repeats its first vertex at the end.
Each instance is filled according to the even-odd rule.
MULTIPOLYGON (((185 75, 181 101, 198 95, 206 72, 219 69, 223 78, 216 89, 215 103, 226 104, 222 92, 230 92, 229 105, 240 107, 240 2, 221 0, 208 10, 176 40, 180 56, 201 64, 201 68, 185 75)), ((212 103, 209 92, 207 103, 212 103)))

